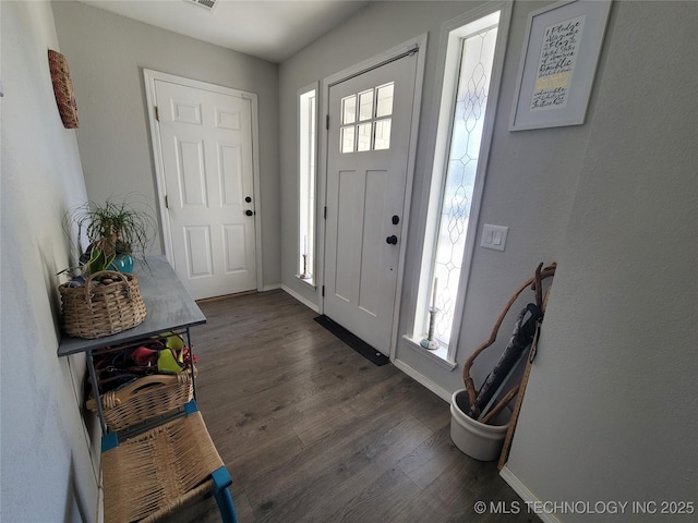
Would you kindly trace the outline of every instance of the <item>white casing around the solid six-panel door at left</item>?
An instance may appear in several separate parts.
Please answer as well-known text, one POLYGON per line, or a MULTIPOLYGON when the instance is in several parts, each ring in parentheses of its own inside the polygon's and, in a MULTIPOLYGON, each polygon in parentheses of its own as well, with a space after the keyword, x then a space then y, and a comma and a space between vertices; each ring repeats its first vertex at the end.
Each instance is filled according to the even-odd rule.
POLYGON ((160 147, 160 130, 157 124, 156 117, 156 96, 155 96, 155 82, 170 82, 178 85, 193 87, 196 89, 209 90, 221 95, 236 96, 250 100, 252 109, 252 170, 253 170, 253 198, 254 198, 254 230, 255 230, 255 267, 256 267, 256 288, 263 289, 264 275, 262 272, 262 223, 261 223, 261 200, 260 200, 260 126, 257 120, 257 95, 232 87, 226 87, 216 84, 209 84, 207 82, 201 82, 197 80, 186 78, 183 76, 177 76, 169 73, 163 73, 159 71, 153 71, 149 69, 143 69, 143 77, 145 81, 145 99, 148 111, 148 123, 151 127, 151 146, 153 151, 153 161, 155 165, 155 178, 157 182, 157 207, 161 218, 161 231, 163 243, 165 245, 165 256, 170 265, 174 266, 174 255, 172 246, 172 233, 170 228, 169 214, 166 203, 166 184, 165 184, 165 169, 161 156, 160 147))

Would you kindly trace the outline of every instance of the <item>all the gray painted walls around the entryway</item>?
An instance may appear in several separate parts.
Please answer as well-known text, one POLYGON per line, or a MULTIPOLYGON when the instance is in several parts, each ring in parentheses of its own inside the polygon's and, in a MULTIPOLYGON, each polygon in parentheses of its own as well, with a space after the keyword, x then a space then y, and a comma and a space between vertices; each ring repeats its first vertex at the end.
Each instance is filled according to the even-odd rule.
MULTIPOLYGON (((509 239, 504 253, 474 252, 458 362, 486 338, 532 268, 557 260, 507 470, 541 500, 695 500, 698 4, 615 2, 587 123, 509 133, 527 14, 546 3, 514 8, 480 217, 509 226, 509 239)), ((95 519, 98 453, 77 408, 84 362, 56 357, 53 275, 69 264, 60 227, 67 208, 86 194, 153 195, 139 68, 260 95, 266 282, 278 276, 316 301, 293 287, 297 90, 429 32, 402 333, 411 327, 426 209, 438 29, 476 4, 375 4, 285 62, 277 101, 273 64, 82 4, 58 2, 51 13, 45 2, 1 2, 3 519, 95 519), (53 16, 74 75, 77 141, 60 123, 48 76, 46 50, 59 41, 53 16), (41 495, 31 500, 31 492, 41 495)), ((404 343, 397 357, 444 391, 461 386, 460 367, 435 366, 404 343)))

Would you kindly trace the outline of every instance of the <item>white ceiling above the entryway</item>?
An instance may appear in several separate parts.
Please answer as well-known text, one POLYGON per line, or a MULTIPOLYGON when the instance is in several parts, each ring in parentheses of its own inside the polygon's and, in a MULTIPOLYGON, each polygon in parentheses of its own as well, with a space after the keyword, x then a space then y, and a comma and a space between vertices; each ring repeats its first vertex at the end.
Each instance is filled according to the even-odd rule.
POLYGON ((192 0, 81 0, 112 13, 272 62, 341 24, 370 1, 217 0, 213 10, 192 0))

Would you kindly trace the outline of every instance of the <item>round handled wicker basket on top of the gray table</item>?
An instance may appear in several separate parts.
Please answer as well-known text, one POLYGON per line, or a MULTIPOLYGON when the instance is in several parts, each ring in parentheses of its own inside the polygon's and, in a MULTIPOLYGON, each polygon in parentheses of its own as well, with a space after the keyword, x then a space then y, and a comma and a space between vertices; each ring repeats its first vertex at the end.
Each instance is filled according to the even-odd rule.
POLYGON ((145 304, 134 275, 103 270, 89 275, 83 287, 58 288, 61 293, 63 330, 77 338, 101 338, 141 324, 145 304), (108 277, 112 283, 99 283, 108 277))

